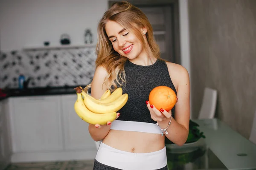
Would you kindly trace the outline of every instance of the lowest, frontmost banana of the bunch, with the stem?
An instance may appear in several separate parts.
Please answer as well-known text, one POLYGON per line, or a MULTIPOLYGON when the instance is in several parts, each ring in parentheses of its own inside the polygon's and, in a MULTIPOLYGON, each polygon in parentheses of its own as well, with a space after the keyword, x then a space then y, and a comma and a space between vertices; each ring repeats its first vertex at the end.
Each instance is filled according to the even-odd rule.
POLYGON ((81 90, 76 89, 77 100, 75 102, 74 108, 77 115, 87 123, 96 125, 106 125, 108 121, 113 122, 116 119, 116 112, 97 114, 93 113, 86 108, 81 96, 81 90))

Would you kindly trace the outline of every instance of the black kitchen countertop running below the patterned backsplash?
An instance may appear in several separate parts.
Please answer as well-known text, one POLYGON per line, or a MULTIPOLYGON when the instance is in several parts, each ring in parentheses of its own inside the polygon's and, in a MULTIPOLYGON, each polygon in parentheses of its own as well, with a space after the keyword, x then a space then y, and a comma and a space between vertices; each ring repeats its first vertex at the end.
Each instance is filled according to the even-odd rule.
MULTIPOLYGON (((46 87, 46 88, 9 88, 3 90, 7 94, 5 97, 0 97, 0 100, 6 99, 8 97, 17 96, 49 96, 49 95, 61 95, 61 94, 76 94, 74 88, 81 86, 84 88, 86 85, 76 85, 76 86, 61 86, 61 87, 46 87)), ((90 93, 90 89, 88 90, 90 93)))

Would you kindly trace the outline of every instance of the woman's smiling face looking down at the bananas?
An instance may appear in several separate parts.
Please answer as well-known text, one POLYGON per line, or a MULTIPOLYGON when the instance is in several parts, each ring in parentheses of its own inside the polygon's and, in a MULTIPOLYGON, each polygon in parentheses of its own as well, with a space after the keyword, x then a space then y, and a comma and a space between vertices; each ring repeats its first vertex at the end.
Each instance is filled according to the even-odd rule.
MULTIPOLYGON (((106 23, 105 30, 114 50, 121 56, 132 60, 147 55, 143 43, 131 30, 126 30, 119 23, 110 20, 106 23)), ((145 32, 146 29, 141 29, 141 34, 145 32)))

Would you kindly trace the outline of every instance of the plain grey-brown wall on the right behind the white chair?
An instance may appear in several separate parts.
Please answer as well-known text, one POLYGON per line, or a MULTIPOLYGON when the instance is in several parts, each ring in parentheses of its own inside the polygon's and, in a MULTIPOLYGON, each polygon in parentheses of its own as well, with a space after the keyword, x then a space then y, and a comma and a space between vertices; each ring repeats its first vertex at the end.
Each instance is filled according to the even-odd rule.
POLYGON ((205 87, 216 117, 248 138, 256 110, 256 0, 189 0, 193 115, 205 87))

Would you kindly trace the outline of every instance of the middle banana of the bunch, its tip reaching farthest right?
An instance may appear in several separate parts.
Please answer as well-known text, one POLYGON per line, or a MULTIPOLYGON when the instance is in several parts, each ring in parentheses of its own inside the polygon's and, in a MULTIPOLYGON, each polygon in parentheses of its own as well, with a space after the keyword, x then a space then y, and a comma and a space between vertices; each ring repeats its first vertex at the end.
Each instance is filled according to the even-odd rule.
POLYGON ((122 94, 116 100, 109 103, 102 103, 101 100, 97 101, 89 94, 84 93, 85 106, 94 113, 109 113, 116 112, 121 109, 128 100, 128 94, 122 94))

